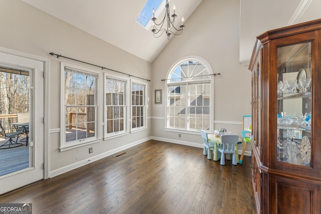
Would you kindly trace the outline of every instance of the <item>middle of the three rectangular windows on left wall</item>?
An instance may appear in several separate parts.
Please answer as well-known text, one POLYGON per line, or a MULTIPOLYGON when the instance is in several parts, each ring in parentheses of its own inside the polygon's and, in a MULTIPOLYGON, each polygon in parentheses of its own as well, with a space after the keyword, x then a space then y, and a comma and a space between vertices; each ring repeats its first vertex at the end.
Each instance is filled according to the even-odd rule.
POLYGON ((126 131, 127 81, 105 76, 105 136, 126 131))

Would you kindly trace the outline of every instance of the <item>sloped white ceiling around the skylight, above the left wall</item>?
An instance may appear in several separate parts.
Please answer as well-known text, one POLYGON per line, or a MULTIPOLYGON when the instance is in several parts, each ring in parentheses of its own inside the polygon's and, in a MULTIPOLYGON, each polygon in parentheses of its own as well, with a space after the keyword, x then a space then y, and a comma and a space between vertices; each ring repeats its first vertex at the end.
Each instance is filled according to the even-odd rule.
MULTIPOLYGON (((147 0, 22 1, 148 62, 152 62, 169 42, 166 36, 154 38, 151 30, 135 21, 147 0)), ((178 20, 183 16, 187 20, 201 2, 171 0, 170 7, 173 10, 175 5, 178 20)))

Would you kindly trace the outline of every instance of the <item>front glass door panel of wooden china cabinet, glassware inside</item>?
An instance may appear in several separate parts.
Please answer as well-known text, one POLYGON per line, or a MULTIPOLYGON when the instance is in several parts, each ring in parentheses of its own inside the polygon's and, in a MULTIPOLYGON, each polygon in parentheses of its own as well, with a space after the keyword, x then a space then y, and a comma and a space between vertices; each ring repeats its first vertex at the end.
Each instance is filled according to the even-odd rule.
POLYGON ((311 165, 311 42, 277 48, 277 160, 311 165))

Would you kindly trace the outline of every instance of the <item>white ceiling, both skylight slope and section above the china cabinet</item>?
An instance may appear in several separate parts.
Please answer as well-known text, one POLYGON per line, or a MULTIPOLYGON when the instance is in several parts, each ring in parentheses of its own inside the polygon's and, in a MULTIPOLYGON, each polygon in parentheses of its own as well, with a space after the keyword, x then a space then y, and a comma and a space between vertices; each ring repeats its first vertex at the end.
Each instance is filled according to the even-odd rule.
MULTIPOLYGON (((147 0, 22 1, 148 62, 169 43, 165 35, 155 39, 135 21, 147 0)), ((171 0, 170 7, 175 5, 178 20, 184 16, 186 23, 202 1, 171 0)), ((320 7, 321 0, 240 0, 240 63, 248 64, 256 36, 321 18, 320 7)))

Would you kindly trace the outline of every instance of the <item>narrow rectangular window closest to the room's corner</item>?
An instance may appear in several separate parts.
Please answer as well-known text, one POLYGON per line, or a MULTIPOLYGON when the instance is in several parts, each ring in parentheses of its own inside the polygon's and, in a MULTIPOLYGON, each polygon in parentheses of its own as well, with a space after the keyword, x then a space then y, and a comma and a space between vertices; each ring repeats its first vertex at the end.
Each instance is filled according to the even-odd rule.
POLYGON ((145 127, 145 90, 142 83, 131 83, 131 130, 145 127))

